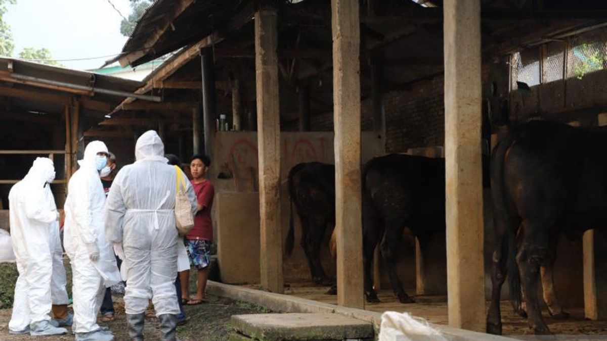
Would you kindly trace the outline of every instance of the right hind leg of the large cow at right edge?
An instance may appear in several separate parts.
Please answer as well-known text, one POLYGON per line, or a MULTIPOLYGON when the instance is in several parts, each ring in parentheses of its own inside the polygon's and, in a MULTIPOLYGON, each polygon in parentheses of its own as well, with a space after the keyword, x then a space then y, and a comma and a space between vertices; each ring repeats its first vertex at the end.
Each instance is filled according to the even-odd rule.
POLYGON ((550 334, 550 330, 541 316, 537 297, 540 265, 544 262, 548 251, 548 238, 546 231, 543 230, 543 228, 546 229, 546 226, 529 223, 525 225, 523 243, 517 254, 517 263, 525 294, 527 322, 534 329, 535 334, 550 334))

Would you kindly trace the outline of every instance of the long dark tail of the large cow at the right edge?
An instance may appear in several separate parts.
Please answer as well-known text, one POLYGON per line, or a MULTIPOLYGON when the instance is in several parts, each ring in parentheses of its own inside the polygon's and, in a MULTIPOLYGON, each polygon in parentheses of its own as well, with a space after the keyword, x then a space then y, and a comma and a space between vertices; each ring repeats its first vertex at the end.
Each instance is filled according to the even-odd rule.
POLYGON ((506 183, 504 182, 504 161, 506 152, 514 143, 515 134, 510 132, 493 150, 491 158, 491 191, 493 192, 494 209, 500 209, 507 217, 507 228, 505 231, 506 246, 507 246, 507 277, 510 291, 510 302, 515 309, 519 309, 523 300, 521 295, 521 279, 517 265, 517 248, 515 245, 515 230, 514 221, 508 213, 506 203, 506 183))

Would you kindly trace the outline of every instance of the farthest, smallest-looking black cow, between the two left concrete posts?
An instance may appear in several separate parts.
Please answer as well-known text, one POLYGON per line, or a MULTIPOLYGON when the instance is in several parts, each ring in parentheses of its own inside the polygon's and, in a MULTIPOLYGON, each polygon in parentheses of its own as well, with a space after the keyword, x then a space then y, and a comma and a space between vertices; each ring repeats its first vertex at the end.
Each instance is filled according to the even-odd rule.
POLYGON ((294 166, 288 177, 291 215, 286 252, 293 252, 293 206, 302 226, 301 246, 317 284, 331 284, 320 263, 320 243, 327 226, 335 226, 335 166, 310 162, 294 166))

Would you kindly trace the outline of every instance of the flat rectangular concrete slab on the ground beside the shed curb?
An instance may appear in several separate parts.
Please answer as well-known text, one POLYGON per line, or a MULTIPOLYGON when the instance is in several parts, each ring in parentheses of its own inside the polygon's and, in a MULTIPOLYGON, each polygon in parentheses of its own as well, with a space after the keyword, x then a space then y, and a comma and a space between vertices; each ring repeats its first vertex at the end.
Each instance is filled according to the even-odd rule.
POLYGON ((240 334, 259 340, 345 340, 373 338, 373 325, 340 314, 253 314, 232 316, 240 334))

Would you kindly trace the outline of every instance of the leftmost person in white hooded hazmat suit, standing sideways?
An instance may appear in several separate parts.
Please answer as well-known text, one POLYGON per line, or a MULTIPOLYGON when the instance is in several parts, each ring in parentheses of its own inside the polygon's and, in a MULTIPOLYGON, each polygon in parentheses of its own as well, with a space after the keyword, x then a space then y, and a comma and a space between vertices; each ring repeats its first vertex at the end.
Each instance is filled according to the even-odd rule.
MULTIPOLYGON (((63 260, 56 259, 61 241, 57 241, 59 212, 49 186, 54 179, 53 161, 36 158, 27 175, 8 194, 10 232, 19 271, 9 333, 67 333, 49 315, 52 303, 67 303, 63 260)), ((70 323, 67 318, 59 322, 70 323)))

